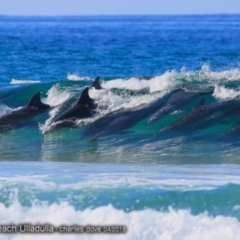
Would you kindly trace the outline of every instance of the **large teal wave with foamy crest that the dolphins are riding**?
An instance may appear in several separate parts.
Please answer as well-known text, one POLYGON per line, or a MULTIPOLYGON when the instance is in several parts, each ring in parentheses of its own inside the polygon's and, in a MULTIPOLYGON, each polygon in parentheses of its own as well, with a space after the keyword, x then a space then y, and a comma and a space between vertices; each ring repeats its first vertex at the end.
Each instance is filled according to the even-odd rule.
POLYGON ((31 158, 44 161, 69 161, 71 153, 71 161, 117 162, 112 156, 118 156, 125 163, 146 159, 236 163, 239 78, 238 69, 213 71, 205 65, 196 71, 167 71, 152 78, 103 78, 101 90, 89 90, 98 106, 93 117, 77 120, 74 129, 55 130, 52 121, 75 104, 93 79, 3 89, 2 116, 25 106, 37 91, 51 110, 11 125, 11 131, 3 128, 2 159, 26 160, 30 151, 31 158), (204 103, 198 106, 201 101, 204 103), (19 142, 25 134, 31 137, 19 142), (231 147, 219 148, 226 144, 231 147), (229 154, 231 158, 226 157, 229 154))

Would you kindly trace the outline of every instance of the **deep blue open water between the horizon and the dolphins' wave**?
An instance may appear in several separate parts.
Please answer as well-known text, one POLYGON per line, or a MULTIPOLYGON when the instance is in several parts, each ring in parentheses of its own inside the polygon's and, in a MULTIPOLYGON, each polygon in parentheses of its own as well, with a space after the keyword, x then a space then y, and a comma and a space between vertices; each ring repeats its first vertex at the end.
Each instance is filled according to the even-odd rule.
POLYGON ((230 69, 239 65, 239 24, 239 15, 1 17, 1 79, 230 69))

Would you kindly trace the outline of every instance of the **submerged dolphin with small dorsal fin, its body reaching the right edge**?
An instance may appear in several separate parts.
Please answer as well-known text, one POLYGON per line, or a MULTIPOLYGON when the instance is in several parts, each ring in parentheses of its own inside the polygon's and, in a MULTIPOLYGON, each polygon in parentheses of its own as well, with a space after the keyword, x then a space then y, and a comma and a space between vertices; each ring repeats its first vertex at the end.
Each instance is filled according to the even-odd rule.
POLYGON ((239 108, 240 100, 224 100, 205 104, 204 99, 201 99, 197 106, 189 114, 180 120, 168 125, 160 132, 170 130, 188 130, 192 124, 195 124, 199 120, 202 120, 207 115, 211 115, 217 111, 230 111, 239 108))

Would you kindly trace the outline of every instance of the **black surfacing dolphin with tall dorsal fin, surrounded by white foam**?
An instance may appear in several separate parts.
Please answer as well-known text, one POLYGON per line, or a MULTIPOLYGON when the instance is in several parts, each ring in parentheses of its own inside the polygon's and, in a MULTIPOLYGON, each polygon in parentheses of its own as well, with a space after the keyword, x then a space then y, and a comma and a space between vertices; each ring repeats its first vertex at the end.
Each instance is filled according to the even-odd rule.
POLYGON ((54 119, 53 122, 60 122, 67 119, 81 119, 91 117, 92 110, 96 108, 96 104, 94 103, 94 100, 89 97, 88 90, 88 87, 85 88, 76 104, 61 114, 59 117, 54 119))

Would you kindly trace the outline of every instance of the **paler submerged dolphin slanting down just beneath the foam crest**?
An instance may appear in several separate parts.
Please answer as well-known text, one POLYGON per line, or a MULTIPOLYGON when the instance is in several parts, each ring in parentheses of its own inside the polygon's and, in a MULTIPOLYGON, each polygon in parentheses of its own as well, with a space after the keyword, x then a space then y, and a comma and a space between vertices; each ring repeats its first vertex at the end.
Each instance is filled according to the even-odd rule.
POLYGON ((159 118, 166 116, 167 114, 174 112, 188 103, 192 98, 201 94, 212 93, 212 89, 189 91, 186 89, 178 89, 168 99, 168 101, 148 120, 147 125, 157 121, 159 118))

